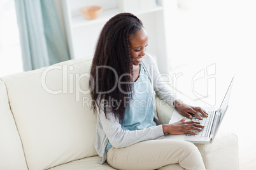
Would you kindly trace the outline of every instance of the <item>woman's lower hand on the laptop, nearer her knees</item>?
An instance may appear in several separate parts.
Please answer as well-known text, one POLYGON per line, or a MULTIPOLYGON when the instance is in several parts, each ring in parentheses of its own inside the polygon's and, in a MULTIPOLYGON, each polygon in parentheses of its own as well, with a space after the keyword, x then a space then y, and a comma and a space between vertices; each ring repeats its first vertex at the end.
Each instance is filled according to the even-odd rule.
POLYGON ((188 121, 185 122, 186 117, 184 117, 181 121, 175 122, 173 124, 163 124, 162 129, 164 133, 169 133, 169 134, 185 134, 185 133, 190 133, 190 134, 197 134, 191 130, 196 130, 196 131, 203 131, 204 126, 201 126, 199 122, 194 122, 194 121, 188 121))

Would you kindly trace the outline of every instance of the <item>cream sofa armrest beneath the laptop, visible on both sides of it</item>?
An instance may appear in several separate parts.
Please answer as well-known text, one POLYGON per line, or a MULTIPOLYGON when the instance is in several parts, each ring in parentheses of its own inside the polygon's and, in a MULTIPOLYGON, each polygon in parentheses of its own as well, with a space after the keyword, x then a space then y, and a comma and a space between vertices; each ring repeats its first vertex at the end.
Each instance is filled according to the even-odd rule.
MULTIPOLYGON (((160 98, 156 98, 157 115, 160 124, 168 124, 174 107, 160 98)), ((208 170, 237 170, 238 165, 238 137, 234 133, 220 130, 213 143, 195 144, 208 170)))

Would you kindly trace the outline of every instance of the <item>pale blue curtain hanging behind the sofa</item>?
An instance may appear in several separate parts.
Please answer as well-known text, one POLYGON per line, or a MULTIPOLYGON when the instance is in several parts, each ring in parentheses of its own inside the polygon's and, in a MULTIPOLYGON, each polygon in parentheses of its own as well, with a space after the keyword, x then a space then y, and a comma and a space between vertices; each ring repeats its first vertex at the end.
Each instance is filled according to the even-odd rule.
POLYGON ((70 59, 53 0, 15 0, 24 70, 70 59))

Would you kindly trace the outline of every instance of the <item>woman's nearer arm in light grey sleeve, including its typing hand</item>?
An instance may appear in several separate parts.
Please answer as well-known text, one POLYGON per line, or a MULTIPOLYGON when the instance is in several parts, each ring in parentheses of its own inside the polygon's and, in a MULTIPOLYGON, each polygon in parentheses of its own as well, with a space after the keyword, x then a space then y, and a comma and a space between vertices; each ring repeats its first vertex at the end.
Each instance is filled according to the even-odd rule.
POLYGON ((108 118, 106 118, 103 109, 98 109, 99 121, 104 129, 104 133, 108 137, 111 145, 115 148, 128 147, 134 143, 145 140, 155 140, 165 133, 169 134, 197 134, 191 129, 196 131, 202 131, 204 126, 201 126, 199 122, 185 122, 185 117, 179 122, 174 124, 163 124, 159 126, 153 126, 146 129, 136 130, 136 131, 125 131, 121 128, 119 121, 114 117, 112 113, 108 113, 108 118))

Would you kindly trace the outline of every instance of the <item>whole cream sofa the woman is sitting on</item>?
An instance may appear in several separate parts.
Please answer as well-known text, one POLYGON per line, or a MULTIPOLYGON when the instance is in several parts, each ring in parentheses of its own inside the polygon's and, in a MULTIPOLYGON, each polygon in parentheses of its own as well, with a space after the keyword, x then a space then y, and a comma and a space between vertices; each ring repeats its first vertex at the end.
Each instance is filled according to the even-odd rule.
MULTIPOLYGON (((69 60, 1 77, 0 169, 113 169, 97 164, 90 64, 91 60, 69 60)), ((171 110, 157 106, 160 122, 169 120, 171 110)), ((212 144, 197 147, 208 170, 238 169, 235 134, 219 133, 212 144)), ((173 169, 183 168, 175 164, 173 169)))

